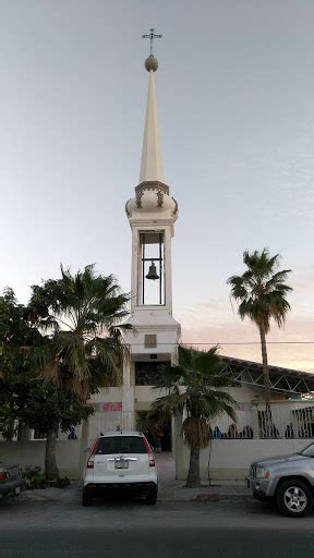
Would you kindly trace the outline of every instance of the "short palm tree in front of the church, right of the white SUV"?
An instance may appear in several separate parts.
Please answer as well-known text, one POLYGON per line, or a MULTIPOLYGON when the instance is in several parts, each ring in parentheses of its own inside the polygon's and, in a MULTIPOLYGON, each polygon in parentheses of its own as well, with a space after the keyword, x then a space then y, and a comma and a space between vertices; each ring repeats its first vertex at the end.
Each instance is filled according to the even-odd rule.
POLYGON ((237 402, 224 391, 234 383, 224 369, 217 347, 205 352, 179 345, 178 356, 177 366, 162 367, 156 388, 166 387, 168 393, 153 402, 149 414, 185 415, 182 435, 191 448, 186 486, 194 488, 201 485, 200 450, 210 442, 210 421, 224 413, 237 421, 237 402))

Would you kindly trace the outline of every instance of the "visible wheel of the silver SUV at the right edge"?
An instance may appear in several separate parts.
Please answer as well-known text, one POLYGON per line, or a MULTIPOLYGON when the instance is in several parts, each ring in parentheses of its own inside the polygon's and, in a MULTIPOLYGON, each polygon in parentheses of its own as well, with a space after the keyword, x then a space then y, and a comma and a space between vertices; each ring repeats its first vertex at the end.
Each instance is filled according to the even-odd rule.
POLYGON ((280 484, 276 502, 283 515, 304 518, 313 509, 313 494, 305 483, 291 478, 280 484))

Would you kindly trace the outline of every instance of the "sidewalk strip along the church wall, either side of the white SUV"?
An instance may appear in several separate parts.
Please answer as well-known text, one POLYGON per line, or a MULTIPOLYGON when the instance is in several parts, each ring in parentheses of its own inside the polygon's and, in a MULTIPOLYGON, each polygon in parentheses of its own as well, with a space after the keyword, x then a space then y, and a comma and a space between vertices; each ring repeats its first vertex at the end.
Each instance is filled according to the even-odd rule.
MULTIPOLYGON (((22 493, 24 501, 63 501, 80 502, 83 483, 73 482, 67 488, 45 488, 22 493)), ((251 497, 251 490, 242 481, 215 481, 213 486, 205 483, 201 488, 186 488, 184 481, 160 480, 158 501, 219 501, 241 500, 251 497)))

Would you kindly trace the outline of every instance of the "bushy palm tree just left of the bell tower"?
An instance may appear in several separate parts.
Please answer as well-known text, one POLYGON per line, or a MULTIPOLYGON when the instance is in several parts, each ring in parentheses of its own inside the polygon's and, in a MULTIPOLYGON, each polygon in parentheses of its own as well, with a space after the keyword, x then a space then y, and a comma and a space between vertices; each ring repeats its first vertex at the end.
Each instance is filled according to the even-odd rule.
MULTIPOLYGON (((35 352, 41 375, 82 402, 97 387, 119 384, 126 351, 121 322, 129 314, 130 295, 120 291, 116 278, 96 275, 93 265, 76 275, 61 266, 61 279, 32 290, 31 319, 46 333, 35 352)), ((47 433, 48 477, 58 475, 57 429, 56 424, 47 433)))

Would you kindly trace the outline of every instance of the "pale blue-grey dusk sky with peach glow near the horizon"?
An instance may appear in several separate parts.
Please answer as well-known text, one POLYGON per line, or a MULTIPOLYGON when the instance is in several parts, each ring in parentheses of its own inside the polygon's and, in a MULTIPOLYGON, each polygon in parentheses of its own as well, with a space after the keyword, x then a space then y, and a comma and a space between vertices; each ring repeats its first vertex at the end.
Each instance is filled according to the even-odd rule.
POLYGON ((266 246, 293 287, 269 362, 314 372, 313 20, 313 0, 0 0, 0 290, 26 303, 60 263, 130 290, 155 27, 182 339, 261 361, 227 279, 266 246))

